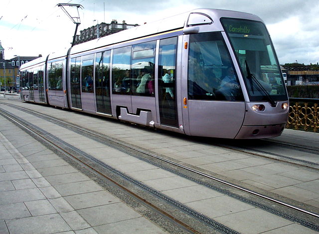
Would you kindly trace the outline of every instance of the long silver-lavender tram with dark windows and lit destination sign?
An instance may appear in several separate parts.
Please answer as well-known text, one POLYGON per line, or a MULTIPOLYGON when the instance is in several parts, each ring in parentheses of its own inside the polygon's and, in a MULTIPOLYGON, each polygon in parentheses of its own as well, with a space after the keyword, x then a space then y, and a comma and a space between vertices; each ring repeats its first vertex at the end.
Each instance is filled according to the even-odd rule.
POLYGON ((278 136, 289 103, 256 15, 194 9, 20 68, 21 99, 187 135, 278 136))

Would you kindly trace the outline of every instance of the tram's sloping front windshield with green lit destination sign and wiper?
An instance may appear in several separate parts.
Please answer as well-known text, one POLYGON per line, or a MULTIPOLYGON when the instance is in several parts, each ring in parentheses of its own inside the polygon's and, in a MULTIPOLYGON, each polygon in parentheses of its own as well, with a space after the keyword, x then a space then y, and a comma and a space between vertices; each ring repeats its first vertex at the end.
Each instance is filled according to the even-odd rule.
POLYGON ((287 100, 285 83, 269 34, 262 22, 223 18, 239 61, 250 101, 287 100))

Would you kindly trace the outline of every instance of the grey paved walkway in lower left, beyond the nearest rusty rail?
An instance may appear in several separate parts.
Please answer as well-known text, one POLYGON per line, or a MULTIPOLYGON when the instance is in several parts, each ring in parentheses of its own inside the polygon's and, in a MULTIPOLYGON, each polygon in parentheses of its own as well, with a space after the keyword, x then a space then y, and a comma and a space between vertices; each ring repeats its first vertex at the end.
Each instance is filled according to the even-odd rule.
POLYGON ((165 233, 2 117, 0 129, 0 234, 165 233))

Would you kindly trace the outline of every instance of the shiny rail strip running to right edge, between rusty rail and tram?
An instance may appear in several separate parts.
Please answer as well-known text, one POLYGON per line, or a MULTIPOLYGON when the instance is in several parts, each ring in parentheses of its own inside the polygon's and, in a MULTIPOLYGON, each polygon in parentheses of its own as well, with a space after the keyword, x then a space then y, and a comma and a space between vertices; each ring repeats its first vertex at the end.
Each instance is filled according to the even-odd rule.
MULTIPOLYGON (((6 105, 7 105, 7 104, 6 104, 6 105)), ((10 105, 11 105, 11 104, 10 104, 10 105)), ((11 106, 13 106, 13 105, 11 105, 11 106)), ((16 109, 22 110, 22 111, 24 111, 24 112, 27 112, 27 113, 29 113, 29 114, 31 114, 31 115, 35 115, 35 116, 38 116, 38 117, 46 118, 46 119, 49 120, 49 121, 54 121, 54 122, 60 124, 61 126, 71 127, 71 128, 73 128, 75 131, 77 131, 77 132, 82 132, 82 134, 86 134, 86 135, 89 134, 89 135, 91 135, 93 138, 99 139, 99 141, 101 141, 101 142, 103 142, 103 141, 110 141, 110 142, 112 142, 112 143, 114 143, 114 144, 119 145, 120 148, 125 147, 125 148, 128 148, 128 149, 130 149, 130 150, 133 150, 133 151, 135 151, 135 152, 141 153, 141 154, 143 154, 143 155, 147 155, 148 157, 153 157, 153 158, 155 158, 156 160, 160 160, 160 161, 164 162, 165 164, 168 163, 168 164, 170 164, 170 165, 173 166, 173 167, 179 167, 179 168, 181 168, 182 170, 187 171, 187 172, 183 172, 182 174, 183 174, 184 177, 186 177, 186 178, 188 178, 188 179, 194 180, 194 176, 189 176, 189 173, 191 173, 191 174, 196 174, 195 177, 203 177, 203 178, 205 178, 205 179, 199 179, 199 180, 197 180, 196 183, 201 183, 201 184, 205 185, 206 187, 210 187, 211 189, 215 189, 215 190, 216 190, 215 185, 212 185, 211 183, 206 183, 205 180, 207 180, 207 179, 208 179, 208 180, 213 180, 213 181, 215 181, 215 182, 222 183, 222 184, 224 184, 224 185, 226 185, 226 186, 230 186, 230 187, 232 187, 233 189, 235 188, 235 189, 239 189, 239 190, 241 190, 241 191, 244 191, 245 193, 249 193, 250 196, 256 196, 256 197, 259 197, 259 199, 261 199, 261 200, 266 199, 266 200, 270 201, 271 203, 276 203, 277 205, 275 206, 276 208, 274 209, 274 208, 272 207, 272 205, 269 206, 269 205, 263 204, 263 202, 250 201, 250 200, 247 199, 246 197, 239 196, 238 194, 235 194, 235 193, 233 193, 233 192, 230 192, 229 189, 223 190, 223 189, 218 189, 218 188, 217 188, 217 190, 222 191, 224 194, 227 194, 228 196, 231 196, 231 197, 234 197, 234 198, 236 198, 236 199, 239 199, 239 200, 248 202, 248 203, 250 203, 250 204, 252 204, 252 205, 254 205, 254 206, 256 206, 256 207, 259 207, 259 208, 261 208, 261 209, 264 209, 264 210, 266 210, 266 211, 268 211, 268 212, 271 212, 271 213, 273 213, 273 214, 279 215, 279 216, 281 216, 281 217, 285 217, 286 219, 289 219, 289 220, 292 220, 292 221, 297 222, 297 223, 299 223, 299 224, 302 224, 302 225, 304 225, 305 227, 309 227, 309 228, 311 228, 311 229, 313 229, 313 230, 319 231, 319 226, 317 226, 316 224, 313 224, 313 223, 311 223, 311 222, 308 222, 308 221, 305 221, 305 220, 302 220, 302 219, 297 218, 297 217, 298 217, 298 213, 303 213, 303 214, 306 214, 307 216, 313 217, 313 218, 314 218, 313 220, 316 220, 316 219, 319 218, 319 215, 318 215, 317 213, 315 213, 315 212, 309 212, 309 211, 304 210, 304 209, 302 209, 302 208, 299 208, 299 207, 297 207, 297 206, 293 206, 293 205, 287 204, 287 203, 285 203, 285 202, 282 202, 282 201, 280 201, 280 200, 273 199, 273 198, 271 198, 271 197, 265 196, 265 195, 263 195, 263 194, 260 194, 260 193, 254 192, 254 191, 250 191, 250 190, 245 189, 245 188, 243 188, 243 187, 241 187, 241 186, 238 186, 238 185, 229 183, 229 182, 227 182, 227 181, 223 181, 223 180, 221 180, 221 179, 219 179, 219 178, 216 178, 216 177, 213 177, 213 176, 211 176, 211 175, 208 175, 208 174, 202 173, 202 172, 200 172, 200 171, 194 170, 193 168, 186 167, 186 166, 181 165, 181 164, 179 164, 179 163, 176 163, 176 162, 174 162, 174 161, 172 161, 172 160, 168 160, 167 158, 160 157, 159 155, 156 155, 156 154, 154 154, 154 153, 150 153, 150 152, 148 152, 148 151, 146 151, 146 150, 143 150, 143 149, 141 149, 141 148, 138 148, 138 147, 134 147, 134 146, 132 146, 132 145, 130 145, 130 144, 124 143, 124 142, 122 142, 122 141, 120 141, 120 140, 117 140, 117 139, 114 139, 114 138, 112 138, 112 137, 105 136, 105 135, 103 135, 103 134, 101 134, 101 133, 98 133, 98 132, 95 132, 95 131, 91 131, 91 130, 89 130, 89 129, 83 129, 83 127, 77 126, 76 124, 72 124, 72 123, 69 123, 69 122, 65 122, 65 121, 63 121, 63 120, 61 120, 61 119, 57 119, 57 118, 54 118, 54 117, 50 117, 50 116, 48 116, 48 115, 45 115, 45 114, 42 114, 42 113, 38 113, 38 112, 35 112, 35 111, 30 111, 30 110, 28 110, 28 109, 21 108, 21 107, 18 107, 18 106, 13 106, 13 107, 16 108, 16 109), (204 181, 204 182, 203 182, 203 181, 204 181), (278 205, 279 205, 279 206, 288 207, 289 209, 295 210, 295 212, 296 212, 296 213, 295 213, 295 216, 294 216, 294 215, 285 214, 285 212, 283 212, 280 208, 278 209, 278 205)), ((3 112, 3 110, 1 110, 1 112, 3 112)), ((5 115, 10 115, 10 114, 9 114, 9 113, 5 113, 5 115)), ((167 168, 166 168, 166 169, 167 169, 167 168)), ((196 180, 196 179, 195 179, 195 180, 196 180)), ((294 212, 292 212, 292 213, 294 213, 294 212)))

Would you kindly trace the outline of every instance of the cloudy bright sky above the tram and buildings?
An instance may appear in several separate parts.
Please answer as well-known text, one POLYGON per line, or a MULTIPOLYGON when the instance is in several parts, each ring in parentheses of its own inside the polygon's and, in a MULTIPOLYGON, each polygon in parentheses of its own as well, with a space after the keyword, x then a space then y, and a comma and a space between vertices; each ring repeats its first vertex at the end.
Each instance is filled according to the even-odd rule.
MULTIPOLYGON (((319 63, 319 0, 1 0, 0 41, 5 59, 70 47, 75 24, 58 3, 83 6, 77 34, 97 22, 117 19, 142 25, 196 8, 252 13, 264 20, 280 64, 319 63)), ((78 16, 76 7, 66 9, 78 16)))

